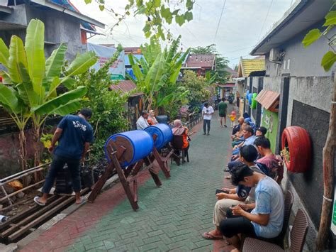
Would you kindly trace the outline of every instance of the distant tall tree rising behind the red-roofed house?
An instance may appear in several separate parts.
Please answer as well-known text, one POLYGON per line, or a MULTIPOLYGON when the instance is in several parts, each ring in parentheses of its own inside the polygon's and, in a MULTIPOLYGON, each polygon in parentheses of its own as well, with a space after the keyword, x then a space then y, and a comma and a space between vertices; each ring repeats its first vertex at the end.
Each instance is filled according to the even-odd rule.
POLYGON ((195 54, 214 54, 215 55, 215 70, 211 71, 211 75, 215 77, 215 82, 225 83, 228 77, 228 72, 225 69, 228 67, 228 59, 218 53, 215 44, 207 45, 205 47, 198 46, 191 48, 191 53, 195 54))

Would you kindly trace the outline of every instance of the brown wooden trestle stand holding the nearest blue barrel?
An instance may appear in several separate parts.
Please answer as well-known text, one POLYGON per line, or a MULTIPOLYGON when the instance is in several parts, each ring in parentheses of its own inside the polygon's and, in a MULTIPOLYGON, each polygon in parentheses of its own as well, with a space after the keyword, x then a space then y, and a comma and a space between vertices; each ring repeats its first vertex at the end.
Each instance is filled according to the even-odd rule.
POLYGON ((96 199, 96 197, 99 195, 99 192, 101 192, 101 188, 108 180, 108 177, 111 175, 113 170, 116 169, 121 185, 123 185, 123 189, 125 190, 128 200, 130 201, 130 205, 132 206, 133 210, 139 209, 137 179, 138 179, 138 172, 140 172, 144 164, 145 168, 143 168, 142 170, 144 169, 149 170, 150 175, 152 175, 152 178, 157 187, 162 185, 161 181, 159 180, 159 176, 153 170, 152 161, 150 160, 150 158, 146 157, 143 158, 142 160, 138 160, 138 162, 133 165, 129 165, 128 168, 123 169, 121 168, 120 162, 123 162, 123 160, 127 160, 126 157, 127 148, 121 145, 116 146, 115 144, 113 144, 112 141, 107 148, 108 152, 110 153, 109 157, 111 158, 111 163, 108 164, 106 171, 94 185, 91 195, 89 196, 88 202, 91 203, 94 202, 94 199, 96 199), (130 184, 132 183, 133 183, 133 190, 131 189, 130 186, 130 184))

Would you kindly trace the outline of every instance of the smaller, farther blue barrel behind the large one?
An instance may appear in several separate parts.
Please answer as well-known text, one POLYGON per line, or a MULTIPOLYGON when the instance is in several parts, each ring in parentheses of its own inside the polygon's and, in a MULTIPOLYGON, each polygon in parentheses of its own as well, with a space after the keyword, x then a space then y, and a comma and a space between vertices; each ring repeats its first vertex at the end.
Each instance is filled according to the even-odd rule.
POLYGON ((145 128, 145 131, 147 131, 150 136, 157 136, 154 141, 154 146, 158 150, 172 141, 173 138, 172 128, 167 124, 155 124, 145 128))

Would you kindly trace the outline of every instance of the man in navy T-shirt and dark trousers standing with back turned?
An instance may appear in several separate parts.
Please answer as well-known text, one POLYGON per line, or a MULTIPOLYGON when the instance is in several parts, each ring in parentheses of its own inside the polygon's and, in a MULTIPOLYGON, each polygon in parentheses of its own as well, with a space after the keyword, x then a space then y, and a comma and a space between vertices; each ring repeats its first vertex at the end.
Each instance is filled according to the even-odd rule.
POLYGON ((54 185, 57 173, 65 164, 69 168, 72 176, 72 187, 76 194, 76 204, 84 201, 80 197, 81 178, 80 163, 85 161, 85 154, 89 150, 90 143, 94 141, 94 131, 92 126, 87 122, 92 116, 91 109, 82 109, 78 116, 67 115, 63 117, 58 124, 54 136, 52 136, 49 152, 53 153, 50 170, 45 177, 45 185, 43 185, 43 197, 35 197, 34 201, 41 206, 47 202, 52 185, 54 185), (55 147, 56 142, 58 145, 55 147))

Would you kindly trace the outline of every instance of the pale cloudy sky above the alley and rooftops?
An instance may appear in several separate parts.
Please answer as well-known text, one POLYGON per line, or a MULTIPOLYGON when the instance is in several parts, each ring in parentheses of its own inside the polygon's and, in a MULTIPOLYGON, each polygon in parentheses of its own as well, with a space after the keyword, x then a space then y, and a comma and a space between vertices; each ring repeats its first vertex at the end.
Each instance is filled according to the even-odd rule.
MULTIPOLYGON (((105 1, 106 9, 121 14, 125 12, 124 7, 128 3, 128 0, 105 1)), ((171 0, 173 3, 178 1, 171 0)), ((295 0, 195 0, 192 21, 181 27, 174 22, 170 26, 165 24, 164 27, 171 31, 174 38, 182 36, 181 47, 184 50, 215 43, 218 52, 228 58, 229 66, 234 67, 240 57, 251 57, 249 54, 254 45, 271 30, 294 2, 295 0)), ((105 35, 95 35, 88 40, 89 43, 121 43, 128 47, 147 42, 142 32, 146 19, 144 16, 127 16, 125 21, 111 31, 117 21, 111 11, 100 11, 94 1, 86 5, 84 0, 72 0, 72 4, 86 16, 106 25, 104 30, 97 28, 97 31, 105 35)))

